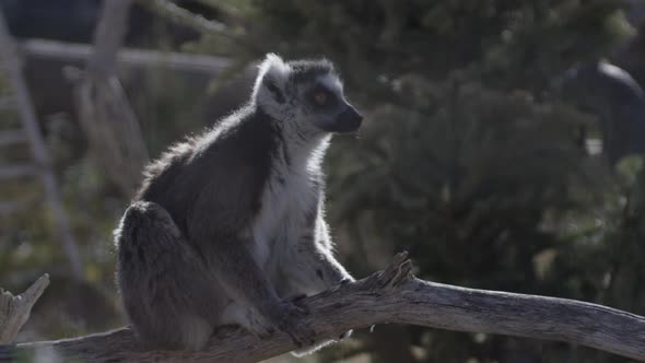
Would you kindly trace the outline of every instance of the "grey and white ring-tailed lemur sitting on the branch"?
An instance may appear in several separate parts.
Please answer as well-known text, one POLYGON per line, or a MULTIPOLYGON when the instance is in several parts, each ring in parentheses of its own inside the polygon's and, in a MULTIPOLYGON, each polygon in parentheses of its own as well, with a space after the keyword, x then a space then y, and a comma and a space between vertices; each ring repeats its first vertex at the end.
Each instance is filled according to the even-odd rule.
POLYGON ((321 161, 362 119, 331 62, 269 54, 244 107, 151 163, 115 231, 140 340, 198 350, 235 324, 315 344, 292 297, 353 281, 332 254, 321 161))

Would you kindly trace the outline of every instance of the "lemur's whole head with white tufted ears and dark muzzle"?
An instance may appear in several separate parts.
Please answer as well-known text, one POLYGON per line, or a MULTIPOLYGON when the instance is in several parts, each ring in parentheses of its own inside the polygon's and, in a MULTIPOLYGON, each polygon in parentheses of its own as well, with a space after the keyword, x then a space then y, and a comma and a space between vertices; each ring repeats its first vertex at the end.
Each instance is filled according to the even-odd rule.
POLYGON ((267 55, 253 99, 269 115, 313 132, 352 132, 363 120, 344 98, 342 83, 328 60, 285 62, 267 55))

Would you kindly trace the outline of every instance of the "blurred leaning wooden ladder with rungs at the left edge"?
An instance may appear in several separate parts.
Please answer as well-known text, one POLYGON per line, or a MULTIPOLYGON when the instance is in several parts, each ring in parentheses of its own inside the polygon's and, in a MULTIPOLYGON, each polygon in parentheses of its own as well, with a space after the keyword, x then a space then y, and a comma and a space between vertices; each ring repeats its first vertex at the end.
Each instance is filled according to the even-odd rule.
MULTIPOLYGON (((0 62, 9 81, 11 95, 0 97, 0 109, 14 109, 20 116, 22 128, 0 132, 0 147, 8 148, 28 143, 33 163, 8 165, 0 168, 0 182, 5 179, 37 176, 43 183, 45 198, 56 224, 56 235, 62 244, 69 260, 72 277, 84 280, 83 265, 77 241, 71 233, 71 225, 64 210, 58 182, 56 180, 51 157, 47 151, 36 119, 34 104, 22 73, 22 63, 16 45, 9 34, 4 14, 0 11, 0 62)), ((0 209, 11 211, 10 202, 0 203, 0 209)))

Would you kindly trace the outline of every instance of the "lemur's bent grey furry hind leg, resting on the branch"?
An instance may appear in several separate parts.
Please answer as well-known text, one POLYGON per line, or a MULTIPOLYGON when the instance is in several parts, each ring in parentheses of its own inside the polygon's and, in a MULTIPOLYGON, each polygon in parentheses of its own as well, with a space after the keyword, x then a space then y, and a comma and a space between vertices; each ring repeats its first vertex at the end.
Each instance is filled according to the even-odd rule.
POLYGON ((140 339, 154 348, 201 349, 221 307, 203 261, 168 212, 153 202, 128 208, 115 232, 117 284, 140 339))

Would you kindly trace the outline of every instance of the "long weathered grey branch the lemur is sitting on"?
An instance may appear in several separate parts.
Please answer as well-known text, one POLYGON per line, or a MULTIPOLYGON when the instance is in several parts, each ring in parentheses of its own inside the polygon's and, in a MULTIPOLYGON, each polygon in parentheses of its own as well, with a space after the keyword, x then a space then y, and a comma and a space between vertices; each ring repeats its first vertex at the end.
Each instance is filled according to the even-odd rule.
MULTIPOLYGON (((408 324, 558 340, 645 361, 645 317, 565 298, 464 289, 410 274, 404 254, 384 271, 307 297, 317 338, 374 324, 408 324)), ((378 329, 378 327, 376 327, 378 329)), ((218 330, 204 351, 145 351, 122 328, 75 339, 19 344, 16 354, 48 349, 64 361, 257 362, 296 347, 283 333, 259 340, 234 327, 218 330)))

